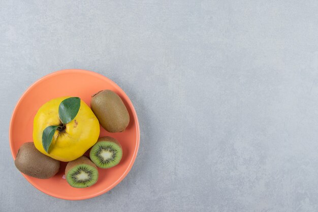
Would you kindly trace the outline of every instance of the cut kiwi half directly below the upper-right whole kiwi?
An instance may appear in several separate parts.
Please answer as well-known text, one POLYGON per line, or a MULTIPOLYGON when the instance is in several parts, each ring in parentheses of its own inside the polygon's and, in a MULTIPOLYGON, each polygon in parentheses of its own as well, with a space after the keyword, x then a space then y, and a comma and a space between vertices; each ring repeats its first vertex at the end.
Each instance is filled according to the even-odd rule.
POLYGON ((90 149, 89 157, 98 167, 111 168, 116 166, 121 160, 121 145, 115 138, 101 137, 90 149))

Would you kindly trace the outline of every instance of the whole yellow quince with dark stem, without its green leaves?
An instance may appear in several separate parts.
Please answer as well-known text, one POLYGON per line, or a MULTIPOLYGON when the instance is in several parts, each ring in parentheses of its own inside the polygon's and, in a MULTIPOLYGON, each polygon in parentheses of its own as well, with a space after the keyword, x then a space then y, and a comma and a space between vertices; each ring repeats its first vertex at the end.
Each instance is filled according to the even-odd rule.
POLYGON ((69 97, 60 97, 41 106, 34 118, 33 141, 36 148, 51 158, 59 161, 73 161, 81 157, 93 146, 100 135, 100 124, 97 117, 80 100, 80 107, 75 118, 63 124, 59 117, 60 103, 69 97), (43 147, 42 136, 49 126, 56 126, 48 151, 43 147))

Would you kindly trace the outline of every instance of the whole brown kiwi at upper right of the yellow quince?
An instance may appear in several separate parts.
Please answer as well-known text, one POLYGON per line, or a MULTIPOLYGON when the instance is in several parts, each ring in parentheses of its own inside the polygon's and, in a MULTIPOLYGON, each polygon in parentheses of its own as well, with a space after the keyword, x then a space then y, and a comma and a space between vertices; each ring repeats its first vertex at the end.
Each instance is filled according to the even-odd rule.
POLYGON ((102 127, 108 132, 122 132, 129 125, 128 110, 120 97, 112 90, 101 90, 94 94, 90 107, 102 127))

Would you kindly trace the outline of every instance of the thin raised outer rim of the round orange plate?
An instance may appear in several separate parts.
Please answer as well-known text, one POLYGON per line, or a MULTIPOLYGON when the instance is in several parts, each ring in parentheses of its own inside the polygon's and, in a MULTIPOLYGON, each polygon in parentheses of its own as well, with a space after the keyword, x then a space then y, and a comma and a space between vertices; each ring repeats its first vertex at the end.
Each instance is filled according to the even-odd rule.
POLYGON ((131 109, 132 109, 132 113, 133 113, 133 115, 135 117, 135 122, 136 122, 137 145, 135 147, 133 158, 130 161, 129 166, 126 168, 124 173, 111 186, 101 190, 100 192, 97 192, 97 193, 94 193, 94 194, 91 194, 91 195, 83 195, 83 196, 80 196, 80 197, 59 196, 59 195, 56 195, 56 194, 54 194, 52 192, 45 191, 44 189, 39 188, 37 185, 34 185, 33 183, 30 182, 29 176, 27 176, 27 175, 23 174, 22 172, 20 172, 24 176, 24 178, 29 182, 29 184, 31 184, 32 186, 37 188, 39 191, 41 191, 41 192, 43 192, 43 193, 45 193, 47 195, 50 195, 52 197, 59 198, 59 199, 65 199, 65 200, 84 200, 84 199, 90 199, 90 198, 102 195, 102 194, 112 190, 115 186, 117 186, 128 175, 128 173, 132 169, 132 167, 133 167, 133 165, 135 163, 137 154, 138 154, 139 144, 140 144, 140 128, 139 128, 139 120, 138 120, 137 112, 135 110, 135 107, 134 107, 131 99, 124 92, 124 90, 119 85, 117 85, 114 81, 112 81, 111 79, 109 79, 108 77, 106 77, 106 76, 104 76, 102 74, 99 74, 99 73, 93 72, 93 71, 89 71, 89 70, 84 70, 84 69, 63 69, 63 70, 59 70, 59 71, 54 71, 54 72, 52 72, 50 74, 47 74, 47 75, 39 78, 34 83, 32 83, 30 86, 28 86, 28 88, 23 92, 23 94, 21 95, 21 97, 19 98, 18 102, 16 103, 16 105, 15 105, 15 107, 13 109, 13 112, 12 112, 12 115, 11 115, 11 119, 10 119, 10 125, 9 125, 9 144, 10 144, 11 155, 12 155, 13 159, 15 160, 16 156, 13 153, 13 147, 12 147, 12 125, 13 125, 13 119, 16 116, 17 107, 21 104, 21 102, 25 98, 25 96, 30 92, 31 88, 35 87, 38 83, 40 83, 41 81, 45 80, 46 78, 48 78, 50 76, 60 75, 60 74, 69 73, 69 72, 71 72, 71 73, 72 72, 88 73, 88 74, 95 75, 95 76, 100 77, 100 78, 102 77, 102 78, 105 78, 106 80, 108 80, 114 86, 118 87, 119 90, 121 90, 122 94, 126 96, 126 98, 128 99, 130 105, 132 106, 131 109))

